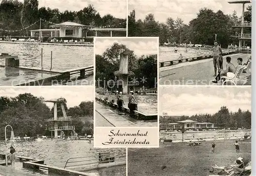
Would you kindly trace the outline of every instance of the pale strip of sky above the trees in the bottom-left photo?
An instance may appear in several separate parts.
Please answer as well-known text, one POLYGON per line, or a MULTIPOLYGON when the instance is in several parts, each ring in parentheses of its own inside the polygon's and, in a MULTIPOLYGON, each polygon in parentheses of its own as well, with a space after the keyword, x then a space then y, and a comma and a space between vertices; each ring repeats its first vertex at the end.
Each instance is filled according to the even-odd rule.
MULTIPOLYGON (((65 98, 67 106, 78 106, 82 101, 94 100, 94 86, 27 86, 27 87, 0 87, 0 96, 16 97, 19 94, 31 93, 45 100, 65 98)), ((51 108, 53 103, 46 102, 51 108)))

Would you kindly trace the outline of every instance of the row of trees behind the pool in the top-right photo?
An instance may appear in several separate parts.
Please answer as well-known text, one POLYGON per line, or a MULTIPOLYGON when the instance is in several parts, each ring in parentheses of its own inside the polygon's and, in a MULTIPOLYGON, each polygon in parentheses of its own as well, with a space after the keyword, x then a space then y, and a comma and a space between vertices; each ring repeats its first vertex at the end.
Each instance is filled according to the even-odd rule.
MULTIPOLYGON (((246 8, 244 21, 251 21, 251 5, 246 8)), ((241 23, 241 17, 233 11, 232 15, 225 15, 221 10, 214 12, 211 9, 203 8, 197 13, 197 18, 191 20, 188 25, 183 23, 181 18, 174 20, 172 17, 166 19, 166 23, 159 23, 155 20, 154 14, 146 15, 144 20, 136 21, 136 12, 133 10, 128 17, 129 36, 159 36, 159 44, 171 43, 191 43, 202 45, 213 45, 215 34, 223 48, 227 48, 231 43, 238 43, 239 40, 231 35, 236 32, 241 33, 240 28, 232 28, 234 24, 241 23)), ((251 33, 251 28, 244 28, 245 34, 251 33)), ((251 46, 251 41, 246 40, 247 46, 251 46)))

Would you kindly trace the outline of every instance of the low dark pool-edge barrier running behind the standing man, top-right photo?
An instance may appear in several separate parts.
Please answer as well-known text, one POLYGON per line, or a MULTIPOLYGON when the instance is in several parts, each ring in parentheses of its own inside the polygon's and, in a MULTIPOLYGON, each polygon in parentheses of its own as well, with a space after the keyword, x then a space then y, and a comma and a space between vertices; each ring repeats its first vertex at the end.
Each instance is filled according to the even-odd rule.
MULTIPOLYGON (((238 53, 238 52, 236 52, 236 51, 225 52, 222 55, 226 56, 226 55, 230 55, 230 54, 234 54, 234 53, 238 53)), ((177 60, 159 62, 159 67, 167 67, 167 66, 182 63, 182 62, 192 62, 192 61, 197 61, 197 60, 210 59, 212 57, 213 57, 213 55, 204 55, 204 56, 198 56, 198 57, 190 57, 190 58, 184 58, 184 59, 177 59, 177 60)))

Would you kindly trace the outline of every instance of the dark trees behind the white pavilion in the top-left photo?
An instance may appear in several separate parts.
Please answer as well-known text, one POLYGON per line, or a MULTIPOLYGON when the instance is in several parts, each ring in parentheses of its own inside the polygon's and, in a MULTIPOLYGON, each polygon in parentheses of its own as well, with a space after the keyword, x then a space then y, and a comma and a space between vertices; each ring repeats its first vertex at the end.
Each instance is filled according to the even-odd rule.
MULTIPOLYGON (((17 0, 2 0, 0 4, 1 29, 23 29, 35 23, 40 18, 56 24, 72 21, 74 23, 95 27, 115 25, 115 28, 126 28, 126 19, 115 18, 110 14, 101 17, 93 5, 84 7, 80 11, 72 12, 66 10, 60 12, 58 9, 50 9, 49 7, 41 7, 38 9, 37 0, 25 0, 24 3, 17 0)), ((52 24, 42 22, 41 29, 49 29, 50 25, 52 24)), ((0 35, 29 36, 29 30, 34 29, 39 29, 39 23, 32 25, 27 30, 18 32, 5 32, 0 30, 0 35)))

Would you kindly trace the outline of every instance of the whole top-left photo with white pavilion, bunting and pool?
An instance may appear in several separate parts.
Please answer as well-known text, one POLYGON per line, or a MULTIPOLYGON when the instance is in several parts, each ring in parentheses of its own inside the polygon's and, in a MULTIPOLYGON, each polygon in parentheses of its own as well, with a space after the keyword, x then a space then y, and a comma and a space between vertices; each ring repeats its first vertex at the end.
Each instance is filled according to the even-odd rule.
POLYGON ((127 33, 126 0, 3 1, 0 9, 2 86, 94 85, 93 38, 127 33))

